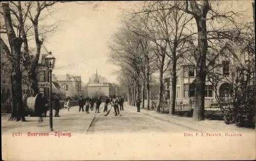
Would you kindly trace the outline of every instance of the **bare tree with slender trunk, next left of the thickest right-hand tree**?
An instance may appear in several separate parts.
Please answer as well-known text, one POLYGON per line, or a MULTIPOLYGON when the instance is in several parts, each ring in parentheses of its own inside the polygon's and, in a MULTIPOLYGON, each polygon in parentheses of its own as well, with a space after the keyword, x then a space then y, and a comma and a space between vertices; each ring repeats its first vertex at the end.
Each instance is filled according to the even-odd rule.
MULTIPOLYGON (((183 10, 180 10, 179 7, 183 5, 180 1, 170 1, 170 2, 146 2, 144 8, 135 12, 135 15, 141 15, 140 21, 144 23, 144 29, 146 31, 141 33, 151 33, 144 34, 145 37, 154 41, 157 45, 159 55, 164 61, 165 55, 170 58, 172 65, 170 67, 170 75, 172 78, 172 90, 170 98, 170 110, 169 114, 174 114, 175 112, 175 100, 176 100, 176 84, 177 84, 177 74, 176 66, 177 60, 183 58, 184 53, 189 49, 189 46, 186 45, 186 39, 191 35, 195 34, 190 32, 189 27, 191 26, 192 16, 189 16, 183 10), (165 10, 166 7, 173 7, 172 10, 165 10), (177 7, 175 7, 177 6, 177 7), (144 16, 146 14, 146 16, 144 16), (144 19, 144 21, 143 21, 144 19), (162 46, 161 43, 164 43, 165 46, 162 46), (159 50, 161 50, 159 52, 159 50)), ((164 62, 161 62, 160 66, 160 75, 162 75, 162 69, 164 62)), ((168 63, 169 65, 169 63, 168 63)), ((160 76, 161 78, 162 76, 160 76)), ((161 93, 159 93, 159 104, 161 100, 161 93)), ((157 111, 159 110, 159 106, 157 111)))

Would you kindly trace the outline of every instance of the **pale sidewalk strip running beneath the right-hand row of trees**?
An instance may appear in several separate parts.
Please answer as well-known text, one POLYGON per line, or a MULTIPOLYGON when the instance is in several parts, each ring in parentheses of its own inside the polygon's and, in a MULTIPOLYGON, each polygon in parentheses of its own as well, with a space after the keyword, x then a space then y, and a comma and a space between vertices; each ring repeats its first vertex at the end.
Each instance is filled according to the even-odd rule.
MULTIPOLYGON (((125 106, 129 108, 137 109, 136 106, 129 105, 125 102, 125 106)), ((164 121, 172 122, 180 126, 184 126, 190 129, 194 129, 201 132, 253 132, 255 129, 237 127, 235 125, 227 125, 224 121, 218 120, 204 120, 204 121, 193 121, 192 118, 179 117, 166 114, 159 114, 152 110, 141 109, 141 114, 161 119, 164 121)))

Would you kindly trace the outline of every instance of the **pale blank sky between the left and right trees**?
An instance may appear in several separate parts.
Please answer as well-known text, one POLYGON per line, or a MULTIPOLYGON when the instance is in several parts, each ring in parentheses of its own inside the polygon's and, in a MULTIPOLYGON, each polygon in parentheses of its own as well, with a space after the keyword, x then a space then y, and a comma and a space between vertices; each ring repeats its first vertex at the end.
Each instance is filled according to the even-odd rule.
POLYGON ((108 60, 111 35, 118 31, 126 2, 95 2, 57 4, 50 20, 61 20, 57 32, 44 43, 56 58, 55 75, 81 75, 83 83, 98 74, 116 82, 116 66, 108 60), (71 66, 68 66, 71 65, 71 66), (64 67, 63 67, 64 66, 64 67), (66 66, 66 67, 65 67, 66 66))

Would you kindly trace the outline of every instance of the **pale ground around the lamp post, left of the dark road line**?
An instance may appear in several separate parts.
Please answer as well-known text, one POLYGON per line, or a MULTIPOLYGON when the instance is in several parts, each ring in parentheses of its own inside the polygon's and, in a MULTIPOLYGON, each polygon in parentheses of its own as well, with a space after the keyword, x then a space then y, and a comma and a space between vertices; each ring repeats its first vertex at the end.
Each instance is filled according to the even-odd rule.
MULTIPOLYGON (((97 113, 90 111, 90 114, 86 114, 86 112, 79 112, 78 106, 72 106, 70 112, 67 109, 61 109, 59 115, 60 117, 53 117, 54 131, 86 133, 97 113)), ((38 117, 26 117, 26 122, 8 121, 9 117, 10 115, 2 116, 2 134, 12 132, 50 132, 49 111, 47 112, 47 117, 41 123, 38 122, 38 117)))

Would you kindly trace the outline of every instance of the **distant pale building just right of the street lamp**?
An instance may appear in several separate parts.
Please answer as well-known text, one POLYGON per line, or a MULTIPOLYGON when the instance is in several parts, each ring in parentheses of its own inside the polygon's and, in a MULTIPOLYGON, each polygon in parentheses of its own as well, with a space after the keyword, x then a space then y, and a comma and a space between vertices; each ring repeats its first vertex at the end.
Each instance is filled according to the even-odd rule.
POLYGON ((81 76, 52 74, 52 81, 58 83, 64 89, 66 97, 79 97, 83 95, 81 76))

